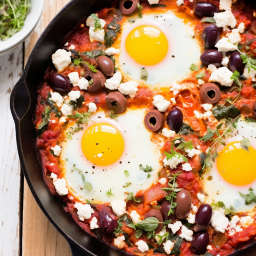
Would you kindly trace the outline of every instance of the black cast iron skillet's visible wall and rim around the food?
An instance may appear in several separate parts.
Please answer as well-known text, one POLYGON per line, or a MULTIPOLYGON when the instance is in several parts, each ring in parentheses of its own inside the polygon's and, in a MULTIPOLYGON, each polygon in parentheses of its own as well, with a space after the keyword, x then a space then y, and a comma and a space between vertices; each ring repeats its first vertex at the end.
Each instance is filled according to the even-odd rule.
MULTIPOLYGON (((106 6, 110 1, 70 1, 55 16, 38 39, 23 75, 12 91, 10 100, 11 112, 16 126, 18 154, 24 176, 44 214, 69 242, 73 256, 124 256, 129 254, 91 237, 75 223, 70 214, 63 210, 63 202, 50 193, 44 182, 35 149, 36 133, 32 117, 37 104, 38 85, 42 82, 45 71, 50 65, 51 56, 59 48, 62 39, 84 16, 106 6)), ((255 254, 256 242, 244 250, 237 250, 232 256, 255 256, 255 254)))

